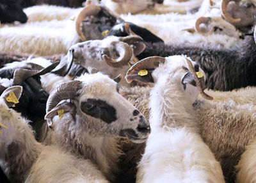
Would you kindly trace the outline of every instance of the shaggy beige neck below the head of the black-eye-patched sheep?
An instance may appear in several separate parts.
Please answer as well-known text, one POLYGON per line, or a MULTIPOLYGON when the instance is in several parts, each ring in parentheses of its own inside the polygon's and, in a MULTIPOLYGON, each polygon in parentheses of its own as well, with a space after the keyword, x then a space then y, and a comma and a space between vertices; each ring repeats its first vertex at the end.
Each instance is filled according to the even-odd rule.
POLYGON ((60 125, 56 129, 54 139, 57 139, 58 144, 78 157, 90 159, 97 164, 108 180, 113 181, 120 154, 116 139, 106 136, 93 137, 88 132, 80 130, 69 131, 69 127, 70 125, 60 125))

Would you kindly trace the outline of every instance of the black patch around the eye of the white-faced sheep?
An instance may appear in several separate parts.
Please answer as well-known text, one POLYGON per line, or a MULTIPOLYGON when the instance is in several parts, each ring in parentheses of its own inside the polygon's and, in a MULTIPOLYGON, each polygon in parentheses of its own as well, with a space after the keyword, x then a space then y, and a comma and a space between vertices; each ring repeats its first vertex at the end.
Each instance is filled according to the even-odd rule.
POLYGON ((116 109, 104 100, 87 99, 81 102, 81 110, 87 115, 111 123, 117 120, 116 109))

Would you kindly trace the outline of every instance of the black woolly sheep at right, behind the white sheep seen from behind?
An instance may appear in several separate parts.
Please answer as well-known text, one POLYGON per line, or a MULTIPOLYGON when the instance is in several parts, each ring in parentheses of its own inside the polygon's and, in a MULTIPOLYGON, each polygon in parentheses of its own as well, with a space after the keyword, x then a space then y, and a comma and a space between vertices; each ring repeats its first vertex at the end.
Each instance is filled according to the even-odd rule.
POLYGON ((255 41, 245 36, 236 49, 220 49, 205 45, 165 45, 145 43, 139 60, 148 56, 186 54, 197 61, 207 76, 206 88, 228 91, 245 86, 255 86, 255 41))

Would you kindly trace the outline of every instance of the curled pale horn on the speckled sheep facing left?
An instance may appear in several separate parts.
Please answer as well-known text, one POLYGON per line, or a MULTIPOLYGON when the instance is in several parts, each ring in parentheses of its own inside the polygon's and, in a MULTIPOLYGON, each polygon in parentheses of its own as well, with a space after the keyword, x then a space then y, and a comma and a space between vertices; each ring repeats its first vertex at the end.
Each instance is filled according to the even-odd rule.
POLYGON ((124 42, 118 42, 118 44, 116 44, 116 50, 120 54, 117 60, 109 58, 106 54, 102 56, 103 60, 106 61, 110 67, 122 67, 127 65, 132 58, 132 48, 124 42))

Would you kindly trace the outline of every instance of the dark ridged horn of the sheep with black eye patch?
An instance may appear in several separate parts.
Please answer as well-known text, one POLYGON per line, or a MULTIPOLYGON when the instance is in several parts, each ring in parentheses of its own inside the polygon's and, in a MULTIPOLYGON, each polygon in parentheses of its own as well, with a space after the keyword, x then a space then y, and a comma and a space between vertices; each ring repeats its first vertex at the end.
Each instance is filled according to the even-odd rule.
POLYGON ((46 104, 46 113, 51 111, 61 100, 74 99, 77 95, 77 90, 81 88, 81 81, 68 81, 61 83, 50 94, 46 104))

